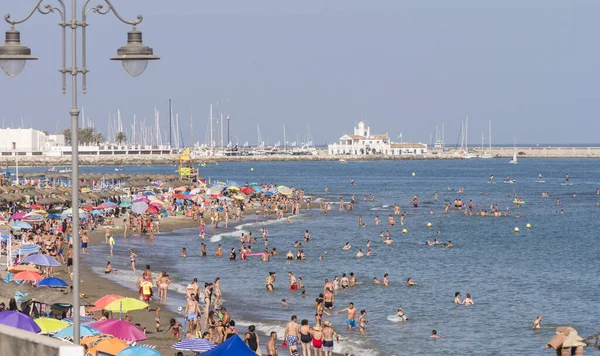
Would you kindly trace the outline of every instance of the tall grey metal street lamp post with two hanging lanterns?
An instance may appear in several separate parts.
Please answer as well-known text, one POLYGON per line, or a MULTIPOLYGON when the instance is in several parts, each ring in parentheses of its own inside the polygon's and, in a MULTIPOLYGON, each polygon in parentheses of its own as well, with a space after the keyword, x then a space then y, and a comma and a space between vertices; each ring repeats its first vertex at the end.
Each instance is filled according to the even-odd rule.
POLYGON ((71 115, 71 208, 72 208, 72 241, 73 241, 73 341, 79 345, 79 327, 80 327, 80 313, 79 313, 79 107, 77 106, 77 75, 82 75, 82 92, 86 93, 86 74, 89 71, 86 67, 86 27, 87 16, 90 12, 95 12, 100 15, 106 15, 112 11, 112 13, 123 23, 131 25, 133 28, 127 34, 127 44, 117 50, 117 55, 112 57, 112 60, 121 61, 123 67, 130 75, 137 77, 144 72, 148 61, 157 60, 158 57, 154 56, 152 48, 145 46, 142 43, 142 33, 137 30, 137 25, 142 22, 142 16, 138 15, 136 20, 125 20, 110 0, 102 0, 106 3, 107 8, 104 9, 103 5, 97 5, 95 7, 88 8, 88 4, 91 0, 85 0, 81 7, 81 21, 77 19, 77 0, 71 0, 71 20, 67 21, 67 9, 64 0, 56 0, 59 7, 53 7, 52 5, 43 6, 46 0, 36 0, 37 3, 33 9, 21 20, 12 20, 10 14, 6 14, 4 19, 10 24, 10 29, 6 31, 6 42, 0 46, 0 67, 10 77, 14 77, 21 73, 25 67, 26 61, 37 60, 36 57, 31 55, 31 50, 21 44, 21 35, 19 31, 15 29, 15 25, 27 21, 36 11, 43 15, 57 12, 61 17, 59 26, 62 27, 62 66, 59 72, 62 73, 62 92, 66 94, 66 75, 71 75, 71 95, 73 106, 69 111, 71 115), (77 29, 81 27, 82 37, 82 66, 77 66, 77 29), (71 66, 67 67, 67 28, 71 29, 71 66))

